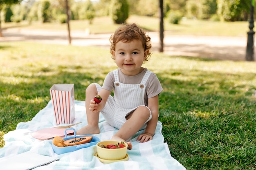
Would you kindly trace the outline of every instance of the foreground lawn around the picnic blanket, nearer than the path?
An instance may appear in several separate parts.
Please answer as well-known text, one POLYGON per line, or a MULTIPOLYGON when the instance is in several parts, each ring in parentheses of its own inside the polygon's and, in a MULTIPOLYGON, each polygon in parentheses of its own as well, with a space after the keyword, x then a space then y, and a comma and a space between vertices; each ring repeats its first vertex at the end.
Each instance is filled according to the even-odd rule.
MULTIPOLYGON (((1 42, 0 60, 0 147, 46 106, 53 84, 73 83, 84 100, 88 84, 117 68, 108 49, 29 42, 1 42)), ((159 120, 172 157, 188 170, 255 169, 255 62, 154 53, 144 67, 164 88, 159 120)))

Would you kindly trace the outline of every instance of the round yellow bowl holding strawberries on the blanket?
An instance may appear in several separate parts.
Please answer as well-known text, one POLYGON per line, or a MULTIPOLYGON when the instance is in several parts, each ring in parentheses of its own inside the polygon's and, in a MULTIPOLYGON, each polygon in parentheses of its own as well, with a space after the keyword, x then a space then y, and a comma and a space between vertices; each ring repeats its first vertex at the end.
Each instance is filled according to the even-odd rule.
POLYGON ((119 160, 124 159, 127 154, 127 144, 124 143, 124 148, 118 148, 118 149, 108 149, 108 148, 101 148, 99 145, 103 144, 104 146, 107 145, 117 145, 118 143, 121 143, 121 141, 100 141, 97 143, 97 152, 98 157, 101 159, 106 160, 119 160))

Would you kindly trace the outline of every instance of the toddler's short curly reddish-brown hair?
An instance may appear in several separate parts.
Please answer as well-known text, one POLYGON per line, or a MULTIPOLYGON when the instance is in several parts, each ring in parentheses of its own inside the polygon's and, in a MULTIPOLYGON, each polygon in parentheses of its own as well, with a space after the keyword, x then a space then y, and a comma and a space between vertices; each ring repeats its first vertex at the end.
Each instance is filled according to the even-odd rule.
MULTIPOLYGON (((151 56, 150 49, 152 47, 151 45, 151 38, 146 35, 143 29, 141 29, 137 24, 124 24, 120 26, 114 33, 114 35, 111 35, 109 38, 109 41, 111 43, 110 51, 115 51, 115 45, 117 42, 131 42, 132 40, 141 40, 142 46, 144 46, 144 51, 148 50, 148 55, 144 61, 148 61, 151 56)), ((112 56, 113 59, 113 56, 112 56)))

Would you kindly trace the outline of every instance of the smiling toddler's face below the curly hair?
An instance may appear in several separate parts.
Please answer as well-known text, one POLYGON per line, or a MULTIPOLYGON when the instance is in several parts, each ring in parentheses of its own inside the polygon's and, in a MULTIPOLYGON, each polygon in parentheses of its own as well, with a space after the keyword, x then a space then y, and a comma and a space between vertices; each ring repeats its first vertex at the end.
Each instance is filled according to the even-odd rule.
POLYGON ((115 51, 112 50, 111 53, 117 66, 125 75, 139 74, 143 70, 141 65, 148 55, 148 51, 144 51, 140 40, 119 41, 115 46, 115 51))

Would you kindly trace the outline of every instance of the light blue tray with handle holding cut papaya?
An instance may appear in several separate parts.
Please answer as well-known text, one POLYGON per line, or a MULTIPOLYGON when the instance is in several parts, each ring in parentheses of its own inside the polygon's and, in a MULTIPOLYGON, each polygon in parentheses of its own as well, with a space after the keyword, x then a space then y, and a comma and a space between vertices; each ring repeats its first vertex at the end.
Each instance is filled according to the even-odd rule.
POLYGON ((100 139, 94 135, 79 135, 79 136, 76 136, 76 130, 74 128, 68 128, 65 130, 65 138, 64 141, 68 140, 68 139, 73 139, 75 137, 85 137, 85 136, 92 136, 92 141, 90 141, 89 143, 86 143, 86 144, 80 144, 80 145, 74 145, 74 146, 65 146, 65 147, 58 147, 58 146, 55 146, 53 143, 52 143, 52 148, 54 150, 54 152, 58 155, 60 154, 63 154, 63 153, 67 153, 67 152, 74 152, 76 150, 79 150, 81 148, 87 148, 87 147, 90 147, 90 146, 93 146, 93 145, 96 145, 100 139), (69 136, 67 137, 67 130, 74 130, 74 135, 73 136, 69 136))

